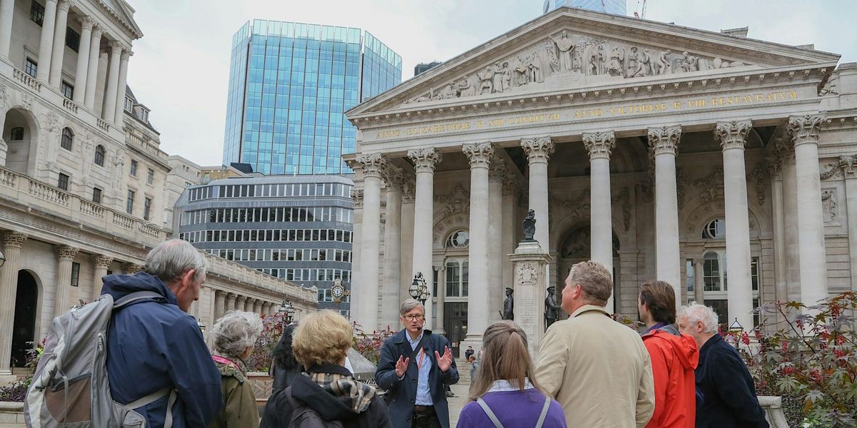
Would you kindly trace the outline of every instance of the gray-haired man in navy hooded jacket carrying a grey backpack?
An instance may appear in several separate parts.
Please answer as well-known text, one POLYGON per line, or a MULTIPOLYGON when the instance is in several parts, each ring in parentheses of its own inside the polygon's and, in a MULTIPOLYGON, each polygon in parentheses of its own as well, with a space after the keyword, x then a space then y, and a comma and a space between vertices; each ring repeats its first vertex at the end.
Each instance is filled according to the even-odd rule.
POLYGON ((155 247, 145 271, 104 277, 101 294, 114 300, 149 292, 146 300, 113 312, 107 333, 113 399, 127 404, 165 391, 135 408, 148 427, 164 426, 168 411, 174 428, 206 426, 223 406, 220 372, 196 320, 187 313, 205 280, 205 259, 181 240, 155 247))

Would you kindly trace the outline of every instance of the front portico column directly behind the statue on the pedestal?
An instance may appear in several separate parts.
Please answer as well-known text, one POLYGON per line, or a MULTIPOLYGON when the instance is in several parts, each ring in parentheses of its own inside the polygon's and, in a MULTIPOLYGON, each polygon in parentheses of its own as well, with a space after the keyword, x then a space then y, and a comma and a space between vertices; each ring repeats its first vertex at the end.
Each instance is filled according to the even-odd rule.
MULTIPOLYGON (((530 209, 536 210, 536 241, 550 253, 548 230, 548 161, 554 152, 550 137, 521 140, 521 147, 530 163, 530 209)), ((469 328, 469 327, 468 327, 469 328)))

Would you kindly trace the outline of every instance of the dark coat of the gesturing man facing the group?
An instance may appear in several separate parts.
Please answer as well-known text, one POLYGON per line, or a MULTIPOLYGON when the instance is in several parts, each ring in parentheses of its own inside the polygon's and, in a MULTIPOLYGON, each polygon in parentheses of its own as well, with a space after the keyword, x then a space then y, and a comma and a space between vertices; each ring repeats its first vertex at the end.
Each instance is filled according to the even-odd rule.
MULTIPOLYGON (((396 361, 399 357, 410 358, 414 355, 411 343, 405 335, 407 330, 403 329, 393 337, 384 342, 381 347, 381 360, 378 361, 378 370, 375 372, 375 382, 382 389, 387 389, 387 407, 390 409, 390 419, 393 420, 394 428, 411 428, 411 415, 414 412, 414 403, 417 400, 417 361, 411 358, 405 377, 399 380, 396 376, 396 361)), ((446 373, 441 373, 437 367, 437 358, 434 351, 443 355, 443 348, 452 349, 446 337, 433 335, 431 330, 423 330, 425 338, 426 353, 431 355, 432 366, 428 372, 428 389, 431 400, 434 403, 434 413, 440 420, 442 428, 449 428, 449 406, 446 404, 446 390, 444 385, 452 385, 458 382, 458 367, 455 359, 446 373)))

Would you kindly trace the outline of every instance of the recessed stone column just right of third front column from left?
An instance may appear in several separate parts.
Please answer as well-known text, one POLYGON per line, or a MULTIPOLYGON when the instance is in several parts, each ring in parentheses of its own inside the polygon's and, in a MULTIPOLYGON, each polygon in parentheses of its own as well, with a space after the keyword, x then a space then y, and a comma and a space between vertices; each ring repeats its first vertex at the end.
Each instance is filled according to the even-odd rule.
POLYGON ((503 309, 503 180, 506 163, 494 156, 488 169, 488 320, 503 309))

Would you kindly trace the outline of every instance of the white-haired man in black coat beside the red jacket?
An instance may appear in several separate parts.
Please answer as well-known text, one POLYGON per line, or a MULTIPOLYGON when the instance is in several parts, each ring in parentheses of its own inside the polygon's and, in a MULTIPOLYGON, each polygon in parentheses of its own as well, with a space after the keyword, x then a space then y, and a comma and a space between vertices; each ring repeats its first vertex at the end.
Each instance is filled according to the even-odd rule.
POLYGON ((735 348, 717 333, 717 314, 708 306, 682 307, 679 330, 699 347, 696 369, 698 428, 768 428, 750 371, 735 348))

